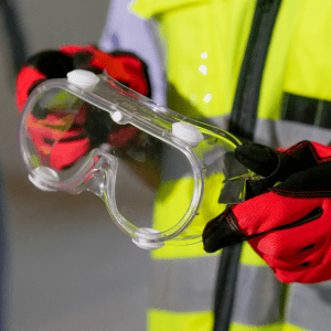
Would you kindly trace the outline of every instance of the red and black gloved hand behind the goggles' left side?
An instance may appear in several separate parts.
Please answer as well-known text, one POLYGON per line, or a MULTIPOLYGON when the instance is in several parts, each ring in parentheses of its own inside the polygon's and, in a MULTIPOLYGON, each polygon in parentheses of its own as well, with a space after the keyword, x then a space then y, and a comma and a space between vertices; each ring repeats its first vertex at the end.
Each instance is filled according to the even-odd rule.
MULTIPOLYGON (((109 76, 127 85, 131 89, 149 96, 151 94, 148 81, 147 67, 137 56, 124 53, 104 53, 98 49, 87 45, 66 45, 58 51, 44 51, 32 56, 22 67, 17 79, 17 103, 21 111, 29 94, 45 79, 63 78, 66 74, 76 68, 93 71, 96 74, 107 71, 109 76)), ((30 134, 35 148, 41 153, 50 150, 50 166, 56 170, 72 166, 82 156, 93 148, 93 141, 98 141, 102 130, 90 124, 86 109, 81 109, 75 116, 73 126, 62 137, 52 149, 50 141, 56 132, 52 130, 52 125, 60 119, 43 116, 43 126, 35 126, 30 134), (45 118, 44 118, 45 117, 45 118), (88 122, 88 128, 86 126, 88 122)), ((36 119, 36 122, 38 122, 36 119)), ((55 126, 53 126, 55 127, 55 126)), ((136 136, 132 128, 121 126, 115 130, 114 137, 108 137, 114 143, 124 143, 126 140, 136 136), (120 140, 120 141, 119 141, 120 140)), ((106 142, 106 141, 104 141, 106 142)))

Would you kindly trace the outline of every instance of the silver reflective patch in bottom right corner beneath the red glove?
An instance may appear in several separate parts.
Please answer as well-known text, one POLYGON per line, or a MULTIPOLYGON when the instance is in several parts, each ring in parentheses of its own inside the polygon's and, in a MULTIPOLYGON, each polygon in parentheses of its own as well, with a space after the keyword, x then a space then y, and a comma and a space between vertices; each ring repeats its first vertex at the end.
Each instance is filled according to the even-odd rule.
POLYGON ((331 330, 331 281, 293 284, 289 290, 286 321, 305 330, 331 330))

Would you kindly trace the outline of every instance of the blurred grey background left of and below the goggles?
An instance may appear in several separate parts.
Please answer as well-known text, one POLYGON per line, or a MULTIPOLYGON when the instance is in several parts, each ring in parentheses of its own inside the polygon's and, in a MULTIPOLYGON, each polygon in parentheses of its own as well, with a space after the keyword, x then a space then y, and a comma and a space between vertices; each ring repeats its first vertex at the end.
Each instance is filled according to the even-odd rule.
MULTIPOLYGON (((6 227, 6 331, 145 330, 149 254, 137 248, 90 193, 44 193, 28 180, 17 141, 14 10, 28 55, 97 43, 108 0, 1 0, 0 168, 6 227), (13 33, 13 32, 12 32, 13 33)), ((19 60, 20 61, 20 60, 19 60)), ((2 242, 3 243, 3 242, 2 242)), ((1 330, 2 331, 2 330, 1 330)))

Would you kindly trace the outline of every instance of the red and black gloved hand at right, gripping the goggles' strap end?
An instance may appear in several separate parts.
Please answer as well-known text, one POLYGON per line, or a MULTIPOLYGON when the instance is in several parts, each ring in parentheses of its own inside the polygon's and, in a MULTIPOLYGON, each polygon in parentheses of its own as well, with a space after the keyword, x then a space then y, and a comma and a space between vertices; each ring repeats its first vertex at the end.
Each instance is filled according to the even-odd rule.
POLYGON ((248 143, 235 158, 264 178, 247 182, 252 199, 207 223, 204 249, 248 241, 282 282, 331 279, 331 147, 248 143))

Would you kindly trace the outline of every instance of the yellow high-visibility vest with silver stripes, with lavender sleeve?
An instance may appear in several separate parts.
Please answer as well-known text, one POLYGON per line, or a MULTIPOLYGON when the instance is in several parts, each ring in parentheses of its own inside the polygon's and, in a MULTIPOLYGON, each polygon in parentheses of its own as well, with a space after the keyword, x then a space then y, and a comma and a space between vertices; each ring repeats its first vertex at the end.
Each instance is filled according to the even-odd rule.
MULTIPOLYGON (((116 11, 118 4, 111 2, 116 11)), ((159 57, 159 65, 164 60, 169 108, 227 129, 237 102, 237 124, 253 128, 257 142, 271 147, 303 139, 331 142, 331 1, 137 0, 131 10, 146 20, 145 32, 130 30, 137 18, 124 15, 109 21, 100 44, 108 51, 130 49, 150 63, 158 96, 162 70, 148 45, 161 45, 164 58, 159 57), (275 21, 268 25, 267 12, 273 10, 275 21), (261 56, 266 26, 271 33, 261 56), (263 70, 258 88, 249 89, 247 82, 254 83, 258 70, 263 70), (241 114, 254 98, 255 116, 241 114)), ((173 201, 179 196, 180 192, 173 201)), ((169 207, 174 209, 174 202, 169 207)), ((201 213, 207 209, 204 205, 201 213)), ((194 245, 164 247, 152 258, 148 330, 212 330, 218 256, 194 245)), ((231 320, 232 331, 330 330, 331 282, 287 288, 245 243, 231 320)))

